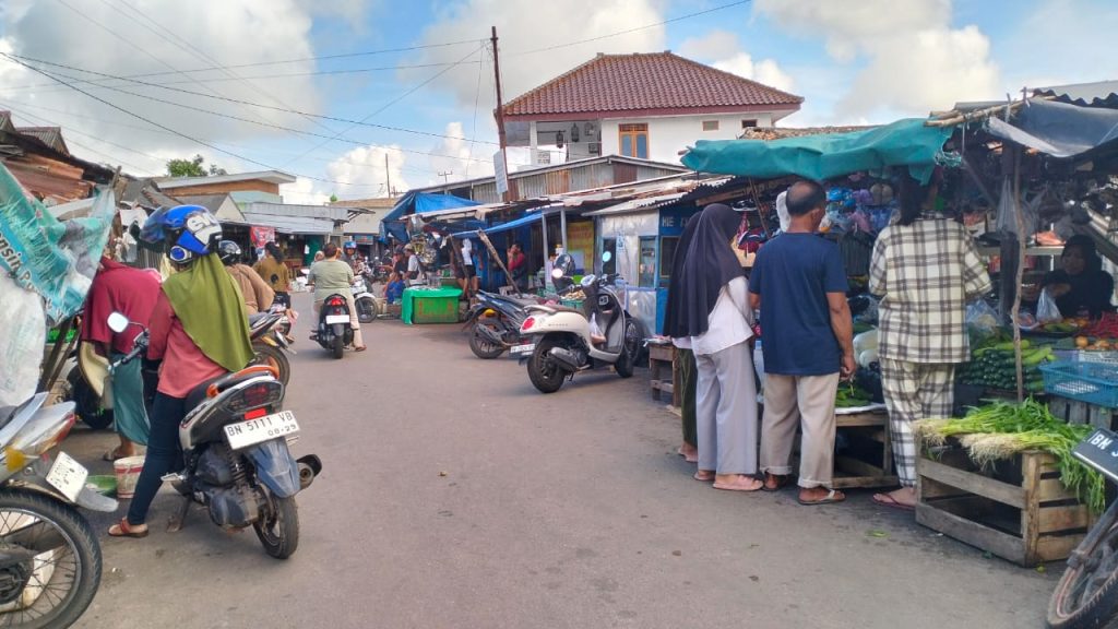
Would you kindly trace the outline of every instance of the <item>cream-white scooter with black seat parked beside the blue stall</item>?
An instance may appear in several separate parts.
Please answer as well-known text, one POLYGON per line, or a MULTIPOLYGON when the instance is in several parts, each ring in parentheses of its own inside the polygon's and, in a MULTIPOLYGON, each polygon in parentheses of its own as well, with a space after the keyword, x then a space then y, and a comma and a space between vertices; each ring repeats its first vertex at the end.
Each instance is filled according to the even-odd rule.
MULTIPOLYGON (((610 254, 603 259, 608 262, 610 254)), ((560 292, 575 289, 575 263, 568 254, 556 259, 551 276, 560 292)), ((541 393, 555 393, 578 372, 613 365, 623 378, 633 375, 644 332, 617 297, 616 274, 582 278, 586 307, 525 306, 528 318, 520 335, 531 342, 513 346, 510 354, 528 362, 528 377, 541 393)))

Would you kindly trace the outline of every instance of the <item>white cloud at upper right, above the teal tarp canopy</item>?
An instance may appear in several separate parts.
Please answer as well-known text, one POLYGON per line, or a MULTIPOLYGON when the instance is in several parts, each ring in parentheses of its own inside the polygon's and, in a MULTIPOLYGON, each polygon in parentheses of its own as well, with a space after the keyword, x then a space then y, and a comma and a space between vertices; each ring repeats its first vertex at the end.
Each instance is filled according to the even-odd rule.
POLYGON ((840 63, 864 60, 836 121, 926 115, 1001 92, 989 38, 975 26, 953 27, 950 0, 756 0, 754 10, 794 35, 826 38, 840 63))

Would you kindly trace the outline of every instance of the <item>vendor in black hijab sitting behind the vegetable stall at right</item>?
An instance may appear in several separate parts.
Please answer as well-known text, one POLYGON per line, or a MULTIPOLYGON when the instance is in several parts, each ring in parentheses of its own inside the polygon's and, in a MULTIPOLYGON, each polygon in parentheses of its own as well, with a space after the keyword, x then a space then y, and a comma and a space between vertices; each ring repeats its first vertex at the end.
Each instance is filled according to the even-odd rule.
POLYGON ((1064 317, 1078 317, 1087 311, 1097 319, 1114 307, 1110 299, 1115 293, 1115 279, 1102 270, 1102 260, 1095 250, 1095 241, 1080 234, 1068 238, 1060 257, 1060 271, 1044 278, 1043 285, 1055 299, 1055 306, 1064 317))

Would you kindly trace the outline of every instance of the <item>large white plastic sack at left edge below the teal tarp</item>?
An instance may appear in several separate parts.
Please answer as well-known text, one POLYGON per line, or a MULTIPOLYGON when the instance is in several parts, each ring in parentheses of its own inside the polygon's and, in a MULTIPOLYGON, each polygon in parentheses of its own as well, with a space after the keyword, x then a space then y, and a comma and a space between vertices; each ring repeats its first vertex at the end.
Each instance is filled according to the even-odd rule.
MULTIPOLYGON (((35 395, 47 342, 42 299, 0 273, 0 406, 15 406, 35 395)), ((59 340, 61 342, 61 340, 59 340)))

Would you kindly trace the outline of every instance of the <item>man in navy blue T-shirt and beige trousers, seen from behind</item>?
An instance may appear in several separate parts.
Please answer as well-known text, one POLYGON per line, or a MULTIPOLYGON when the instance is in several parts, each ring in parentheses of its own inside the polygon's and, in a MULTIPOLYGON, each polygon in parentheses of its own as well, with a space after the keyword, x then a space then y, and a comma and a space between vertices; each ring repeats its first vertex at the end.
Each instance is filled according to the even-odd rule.
POLYGON ((792 475, 793 440, 803 430, 799 503, 845 499, 830 489, 834 472, 835 393, 854 373, 853 326, 839 246, 816 234, 826 191, 815 181, 788 189, 788 231, 757 253, 749 298, 761 311, 765 417, 760 468, 774 491, 792 475))

